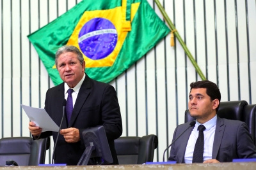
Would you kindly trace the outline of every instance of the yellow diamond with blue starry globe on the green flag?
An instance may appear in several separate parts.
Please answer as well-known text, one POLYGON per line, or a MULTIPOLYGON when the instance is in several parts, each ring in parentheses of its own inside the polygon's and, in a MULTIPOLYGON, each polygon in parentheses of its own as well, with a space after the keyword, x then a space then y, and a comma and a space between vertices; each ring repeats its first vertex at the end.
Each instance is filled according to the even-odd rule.
MULTIPOLYGON (((131 5, 131 21, 140 3, 131 5)), ((74 45, 84 55, 86 67, 109 67, 131 30, 131 22, 125 20, 126 6, 110 10, 85 11, 67 45, 74 45), (122 14, 122 15, 120 15, 122 14)))

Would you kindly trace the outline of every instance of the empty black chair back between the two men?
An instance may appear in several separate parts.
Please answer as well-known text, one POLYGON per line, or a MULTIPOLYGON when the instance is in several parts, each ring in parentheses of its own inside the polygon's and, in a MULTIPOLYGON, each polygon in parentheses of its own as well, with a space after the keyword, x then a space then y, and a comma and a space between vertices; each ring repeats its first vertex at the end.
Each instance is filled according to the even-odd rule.
POLYGON ((115 139, 116 155, 120 165, 152 162, 157 146, 158 139, 154 134, 141 138, 128 136, 115 139))

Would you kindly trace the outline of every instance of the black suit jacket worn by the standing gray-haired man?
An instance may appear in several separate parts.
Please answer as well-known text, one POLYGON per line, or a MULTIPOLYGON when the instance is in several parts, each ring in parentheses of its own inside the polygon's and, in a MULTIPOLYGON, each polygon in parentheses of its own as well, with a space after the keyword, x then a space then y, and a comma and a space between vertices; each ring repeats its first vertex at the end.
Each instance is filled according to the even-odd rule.
MULTIPOLYGON (((47 90, 45 111, 59 126, 63 115, 63 99, 64 83, 47 90)), ((114 139, 119 138, 122 134, 122 118, 116 91, 111 85, 92 80, 86 75, 79 90, 70 122, 67 125, 67 119, 64 117, 61 125, 61 129, 69 127, 79 129, 81 141, 67 143, 60 135, 55 149, 54 162, 56 164, 77 165, 85 149, 82 132, 88 127, 96 127, 97 125, 104 126, 113 164, 118 164, 114 139)), ((58 132, 42 132, 40 138, 52 135, 54 143, 56 143, 57 134, 58 132)))

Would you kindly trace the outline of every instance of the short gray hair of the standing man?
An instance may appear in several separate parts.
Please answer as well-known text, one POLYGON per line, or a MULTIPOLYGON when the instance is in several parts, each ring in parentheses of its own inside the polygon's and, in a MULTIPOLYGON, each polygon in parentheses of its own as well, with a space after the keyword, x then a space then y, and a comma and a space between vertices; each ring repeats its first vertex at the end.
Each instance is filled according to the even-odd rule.
POLYGON ((60 57, 61 54, 63 53, 67 53, 67 52, 73 52, 77 54, 77 59, 79 60, 79 62, 81 63, 81 65, 83 65, 84 62, 84 57, 83 57, 83 53, 81 53, 78 48, 76 48, 76 46, 73 45, 64 45, 61 46, 58 51, 55 54, 55 65, 56 68, 58 68, 58 58, 60 57))

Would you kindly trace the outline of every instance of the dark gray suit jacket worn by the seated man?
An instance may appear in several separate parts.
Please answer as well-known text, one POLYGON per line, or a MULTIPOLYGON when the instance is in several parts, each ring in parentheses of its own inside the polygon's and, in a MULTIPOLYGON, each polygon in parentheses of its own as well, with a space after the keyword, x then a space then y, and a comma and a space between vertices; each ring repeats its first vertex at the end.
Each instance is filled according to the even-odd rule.
MULTIPOLYGON (((187 129, 189 124, 190 122, 177 126, 173 140, 187 129)), ((184 155, 192 129, 193 127, 190 127, 172 145, 169 160, 185 163, 184 155)), ((217 117, 212 159, 232 162, 233 159, 252 158, 254 153, 256 153, 255 145, 244 122, 217 117)))

